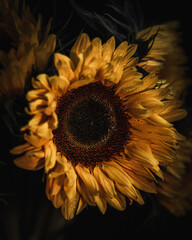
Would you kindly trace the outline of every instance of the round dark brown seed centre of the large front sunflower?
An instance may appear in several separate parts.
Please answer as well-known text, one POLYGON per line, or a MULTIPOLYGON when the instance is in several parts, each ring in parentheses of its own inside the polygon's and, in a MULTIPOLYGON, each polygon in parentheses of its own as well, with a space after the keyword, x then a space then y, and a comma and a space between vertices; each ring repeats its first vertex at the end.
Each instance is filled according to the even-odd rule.
POLYGON ((74 165, 95 165, 120 154, 129 137, 128 115, 112 88, 93 83, 58 99, 57 150, 74 165))

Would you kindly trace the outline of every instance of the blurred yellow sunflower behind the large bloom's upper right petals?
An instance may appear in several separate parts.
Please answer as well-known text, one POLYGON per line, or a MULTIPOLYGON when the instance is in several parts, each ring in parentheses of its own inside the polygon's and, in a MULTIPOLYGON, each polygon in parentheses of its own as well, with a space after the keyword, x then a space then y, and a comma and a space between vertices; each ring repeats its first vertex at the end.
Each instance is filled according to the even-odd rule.
POLYGON ((171 86, 172 95, 179 98, 191 79, 185 76, 187 57, 181 43, 181 33, 178 31, 178 22, 149 27, 137 34, 137 39, 150 42, 150 52, 140 62, 146 71, 155 71, 159 77, 159 84, 171 86))

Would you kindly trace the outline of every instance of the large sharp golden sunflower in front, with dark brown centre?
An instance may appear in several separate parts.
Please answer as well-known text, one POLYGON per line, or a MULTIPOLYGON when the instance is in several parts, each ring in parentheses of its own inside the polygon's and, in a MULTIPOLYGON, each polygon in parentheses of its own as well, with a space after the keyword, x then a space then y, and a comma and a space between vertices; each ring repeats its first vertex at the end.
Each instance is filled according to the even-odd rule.
POLYGON ((124 210, 126 197, 144 204, 142 192, 157 193, 163 169, 177 161, 185 138, 172 122, 186 111, 160 77, 166 54, 152 43, 163 31, 117 47, 114 37, 102 44, 82 33, 69 57, 55 53, 57 75, 32 78, 25 143, 11 153, 18 167, 45 168, 47 197, 66 219, 87 205, 124 210))

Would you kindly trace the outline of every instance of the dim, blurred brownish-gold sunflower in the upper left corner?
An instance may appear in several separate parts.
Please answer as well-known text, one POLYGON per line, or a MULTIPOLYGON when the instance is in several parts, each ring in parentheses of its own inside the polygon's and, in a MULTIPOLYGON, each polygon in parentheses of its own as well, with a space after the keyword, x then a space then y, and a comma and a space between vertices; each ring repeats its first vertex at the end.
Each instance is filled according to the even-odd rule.
POLYGON ((28 79, 45 69, 56 36, 49 35, 51 21, 43 36, 41 25, 42 16, 36 21, 24 3, 21 6, 18 0, 1 0, 0 100, 23 95, 28 79))

